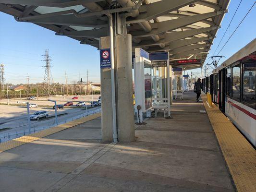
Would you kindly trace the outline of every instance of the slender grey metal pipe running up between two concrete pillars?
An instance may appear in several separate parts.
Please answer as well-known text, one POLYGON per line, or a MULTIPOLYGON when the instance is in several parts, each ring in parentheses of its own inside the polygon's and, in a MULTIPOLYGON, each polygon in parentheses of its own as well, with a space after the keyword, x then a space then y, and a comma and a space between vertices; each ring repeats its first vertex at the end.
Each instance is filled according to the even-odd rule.
POLYGON ((109 17, 110 28, 110 57, 111 57, 111 92, 112 92, 112 112, 113 112, 113 142, 118 141, 117 125, 116 125, 116 94, 115 94, 115 67, 114 67, 114 36, 113 36, 113 17, 109 17))

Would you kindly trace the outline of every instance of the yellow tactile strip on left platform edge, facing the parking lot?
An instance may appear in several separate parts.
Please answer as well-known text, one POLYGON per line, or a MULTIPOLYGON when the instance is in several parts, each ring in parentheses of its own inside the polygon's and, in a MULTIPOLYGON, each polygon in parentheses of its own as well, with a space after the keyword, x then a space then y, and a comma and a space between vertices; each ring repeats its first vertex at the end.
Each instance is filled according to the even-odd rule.
POLYGON ((19 137, 19 138, 1 143, 0 144, 0 153, 3 152, 3 151, 6 151, 6 150, 12 149, 14 147, 20 146, 22 144, 33 142, 37 139, 40 139, 42 137, 46 137, 46 136, 51 135, 53 133, 60 132, 62 130, 68 129, 68 128, 72 128, 75 125, 79 125, 79 124, 87 122, 89 120, 96 119, 100 116, 101 116, 101 113, 96 113, 96 114, 93 114, 93 115, 90 115, 90 116, 87 116, 87 117, 84 117, 84 118, 80 118, 78 120, 73 120, 73 121, 58 125, 56 127, 45 129, 45 130, 40 131, 40 132, 32 133, 30 135, 25 135, 25 136, 22 136, 22 137, 19 137))

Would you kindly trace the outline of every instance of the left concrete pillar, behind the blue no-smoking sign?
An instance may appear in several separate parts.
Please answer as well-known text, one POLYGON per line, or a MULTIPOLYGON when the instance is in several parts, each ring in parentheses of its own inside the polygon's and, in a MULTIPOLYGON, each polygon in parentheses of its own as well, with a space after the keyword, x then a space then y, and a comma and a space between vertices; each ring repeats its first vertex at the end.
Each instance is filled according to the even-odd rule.
MULTIPOLYGON (((110 48, 110 37, 100 37, 100 49, 110 48)), ((113 141, 113 116, 111 94, 111 69, 100 69, 101 83, 101 137, 102 141, 113 141)))

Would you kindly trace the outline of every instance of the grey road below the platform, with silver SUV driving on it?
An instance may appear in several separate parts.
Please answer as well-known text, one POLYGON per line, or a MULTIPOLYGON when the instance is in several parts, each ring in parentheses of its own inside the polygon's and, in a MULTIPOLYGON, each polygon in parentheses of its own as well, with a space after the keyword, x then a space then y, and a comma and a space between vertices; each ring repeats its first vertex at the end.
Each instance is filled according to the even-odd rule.
MULTIPOLYGON (((88 111, 94 111, 100 107, 88 108, 88 111)), ((30 120, 31 131, 34 129, 45 129, 52 127, 55 124, 55 110, 52 107, 38 107, 30 108, 30 114, 38 110, 45 110, 49 112, 49 118, 40 120, 30 120)), ((78 116, 86 114, 85 107, 66 107, 57 110, 58 124, 65 123, 65 121, 72 120, 78 116)), ((0 138, 3 136, 28 132, 27 108, 25 106, 7 106, 0 105, 0 138)), ((19 134, 19 136, 22 136, 19 134)), ((3 142, 3 139, 2 139, 3 142)))

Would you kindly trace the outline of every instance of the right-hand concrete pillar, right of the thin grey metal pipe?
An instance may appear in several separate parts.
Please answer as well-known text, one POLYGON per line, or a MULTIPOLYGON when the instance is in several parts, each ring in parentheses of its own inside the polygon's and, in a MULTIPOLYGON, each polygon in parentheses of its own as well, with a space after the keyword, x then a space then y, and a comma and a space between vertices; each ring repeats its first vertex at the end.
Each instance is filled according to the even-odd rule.
POLYGON ((132 36, 116 36, 118 141, 134 141, 132 36))

